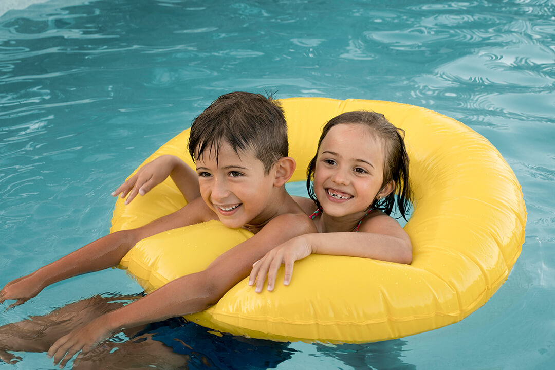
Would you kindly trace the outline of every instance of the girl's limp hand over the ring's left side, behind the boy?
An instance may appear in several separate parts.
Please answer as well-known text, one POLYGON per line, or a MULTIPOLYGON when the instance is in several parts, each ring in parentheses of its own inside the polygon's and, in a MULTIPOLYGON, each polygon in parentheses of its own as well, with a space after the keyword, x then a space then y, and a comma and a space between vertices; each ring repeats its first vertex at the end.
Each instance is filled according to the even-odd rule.
POLYGON ((112 196, 121 194, 120 196, 124 198, 129 194, 125 200, 125 204, 129 204, 137 194, 145 195, 154 186, 162 183, 171 174, 179 160, 174 155, 159 156, 152 162, 142 166, 136 174, 112 192, 112 196))

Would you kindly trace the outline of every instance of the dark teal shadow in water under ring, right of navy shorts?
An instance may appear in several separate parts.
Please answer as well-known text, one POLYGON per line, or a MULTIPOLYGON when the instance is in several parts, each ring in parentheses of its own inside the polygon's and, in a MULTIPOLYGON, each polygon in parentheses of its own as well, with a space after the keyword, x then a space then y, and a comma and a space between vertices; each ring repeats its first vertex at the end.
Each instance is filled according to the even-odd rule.
POLYGON ((334 347, 317 344, 316 351, 326 357, 335 358, 345 365, 358 369, 401 369, 413 370, 416 366, 402 359, 402 339, 366 344, 339 344, 334 347))

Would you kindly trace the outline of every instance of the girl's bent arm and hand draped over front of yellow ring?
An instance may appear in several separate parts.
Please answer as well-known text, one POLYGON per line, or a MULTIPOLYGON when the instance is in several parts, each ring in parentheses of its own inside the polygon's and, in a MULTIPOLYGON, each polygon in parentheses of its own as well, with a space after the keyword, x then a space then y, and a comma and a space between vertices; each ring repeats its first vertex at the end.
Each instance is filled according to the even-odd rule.
POLYGON ((412 262, 412 244, 405 230, 391 217, 378 214, 365 220, 359 232, 306 234, 286 241, 256 261, 250 273, 249 285, 256 282, 255 291, 260 293, 268 276, 268 290, 274 290, 276 275, 282 263, 285 264, 284 285, 289 285, 295 261, 313 253, 412 262))

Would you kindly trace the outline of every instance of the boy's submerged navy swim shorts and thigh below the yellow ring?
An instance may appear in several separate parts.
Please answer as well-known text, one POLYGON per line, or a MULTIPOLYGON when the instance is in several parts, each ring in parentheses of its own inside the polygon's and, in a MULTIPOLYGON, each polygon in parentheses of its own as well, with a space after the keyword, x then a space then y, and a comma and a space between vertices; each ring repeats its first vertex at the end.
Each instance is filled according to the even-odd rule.
POLYGON ((181 318, 152 323, 130 342, 133 352, 124 346, 123 351, 112 348, 107 357, 114 353, 118 361, 108 361, 109 368, 134 368, 132 363, 139 363, 160 369, 273 369, 297 352, 288 348, 289 343, 215 332, 181 318), (136 352, 138 348, 143 353, 136 352))

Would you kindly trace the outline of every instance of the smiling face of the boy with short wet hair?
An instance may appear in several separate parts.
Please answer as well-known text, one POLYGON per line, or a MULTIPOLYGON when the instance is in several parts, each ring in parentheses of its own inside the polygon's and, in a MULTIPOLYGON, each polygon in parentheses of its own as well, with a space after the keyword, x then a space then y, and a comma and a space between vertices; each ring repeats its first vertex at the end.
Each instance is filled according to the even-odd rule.
POLYGON ((273 211, 274 176, 264 174, 264 165, 252 150, 239 151, 228 143, 206 149, 196 163, 200 194, 220 221, 234 229, 245 225, 261 226, 275 216, 273 211))

